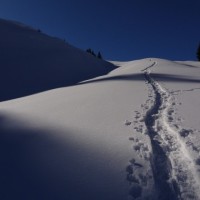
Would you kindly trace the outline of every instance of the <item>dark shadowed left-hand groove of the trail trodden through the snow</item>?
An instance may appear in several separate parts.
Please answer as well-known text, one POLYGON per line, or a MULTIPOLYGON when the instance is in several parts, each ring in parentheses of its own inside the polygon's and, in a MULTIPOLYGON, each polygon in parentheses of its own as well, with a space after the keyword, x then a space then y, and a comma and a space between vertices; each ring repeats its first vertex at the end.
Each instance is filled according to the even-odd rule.
POLYGON ((170 180, 172 171, 171 162, 164 149, 160 146, 160 141, 156 140, 158 133, 154 130, 155 116, 158 114, 159 108, 162 106, 161 94, 158 92, 158 90, 156 90, 156 86, 153 84, 153 80, 149 76, 148 72, 145 72, 145 79, 149 84, 151 84, 155 93, 155 102, 153 107, 147 112, 145 124, 152 145, 151 166, 154 174, 156 189, 158 191, 158 198, 177 199, 176 193, 179 192, 176 191, 176 184, 168 181, 170 180))

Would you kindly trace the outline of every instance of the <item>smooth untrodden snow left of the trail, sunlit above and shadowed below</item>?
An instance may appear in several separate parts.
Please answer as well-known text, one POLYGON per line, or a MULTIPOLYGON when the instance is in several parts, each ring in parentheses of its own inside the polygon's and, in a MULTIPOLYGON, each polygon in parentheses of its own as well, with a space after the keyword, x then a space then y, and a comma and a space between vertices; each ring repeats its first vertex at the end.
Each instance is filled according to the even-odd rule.
MULTIPOLYGON (((100 78, 138 74, 145 64, 100 78)), ((126 167, 137 155, 125 121, 133 120, 133 111, 147 99, 140 78, 84 83, 1 102, 1 199, 127 199, 126 167)), ((143 160, 140 164, 146 169, 143 160)), ((137 190, 140 195, 140 186, 137 190)))

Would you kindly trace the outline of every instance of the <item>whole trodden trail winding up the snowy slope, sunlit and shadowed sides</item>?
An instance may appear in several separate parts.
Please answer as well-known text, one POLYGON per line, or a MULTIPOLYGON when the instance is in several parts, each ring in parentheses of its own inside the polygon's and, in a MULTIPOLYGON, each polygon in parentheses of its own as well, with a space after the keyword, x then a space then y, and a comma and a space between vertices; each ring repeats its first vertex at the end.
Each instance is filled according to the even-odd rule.
POLYGON ((200 199, 199 180, 186 145, 170 125, 175 104, 173 96, 151 77, 154 62, 143 70, 154 93, 154 104, 147 111, 145 125, 152 145, 151 167, 157 199, 200 199))

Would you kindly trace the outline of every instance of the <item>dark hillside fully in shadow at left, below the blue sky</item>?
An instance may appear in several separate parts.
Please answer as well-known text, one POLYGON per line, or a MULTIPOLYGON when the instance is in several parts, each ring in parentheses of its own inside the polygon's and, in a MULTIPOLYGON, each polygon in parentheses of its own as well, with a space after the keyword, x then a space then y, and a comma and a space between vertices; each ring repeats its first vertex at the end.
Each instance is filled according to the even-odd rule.
POLYGON ((0 101, 75 84, 114 67, 63 40, 0 19, 0 101))

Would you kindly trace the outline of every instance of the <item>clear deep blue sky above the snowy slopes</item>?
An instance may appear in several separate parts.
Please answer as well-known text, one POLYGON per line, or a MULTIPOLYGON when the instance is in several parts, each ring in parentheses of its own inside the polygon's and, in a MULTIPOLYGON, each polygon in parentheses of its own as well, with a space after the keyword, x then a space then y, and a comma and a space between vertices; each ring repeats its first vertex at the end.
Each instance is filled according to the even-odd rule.
POLYGON ((0 0, 21 21, 108 60, 196 60, 200 0, 0 0))

